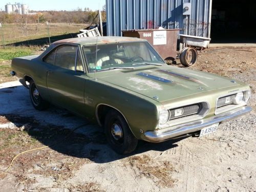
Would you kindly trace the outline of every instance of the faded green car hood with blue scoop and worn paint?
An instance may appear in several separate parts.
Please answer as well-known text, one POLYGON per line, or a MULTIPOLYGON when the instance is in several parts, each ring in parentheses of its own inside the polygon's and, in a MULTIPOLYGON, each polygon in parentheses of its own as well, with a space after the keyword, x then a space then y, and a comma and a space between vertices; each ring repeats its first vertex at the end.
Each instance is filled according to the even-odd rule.
POLYGON ((235 86, 226 77, 170 66, 117 71, 97 78, 159 102, 235 86))

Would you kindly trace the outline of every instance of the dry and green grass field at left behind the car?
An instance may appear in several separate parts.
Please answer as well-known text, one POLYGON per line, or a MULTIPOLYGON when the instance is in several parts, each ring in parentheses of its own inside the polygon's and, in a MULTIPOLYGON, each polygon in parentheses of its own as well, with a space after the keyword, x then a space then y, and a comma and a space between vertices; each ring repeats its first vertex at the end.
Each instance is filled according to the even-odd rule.
MULTIPOLYGON (((84 24, 49 24, 50 39, 54 41, 62 36, 63 38, 75 37, 72 34, 78 33, 85 27, 87 26, 84 24)), ((24 30, 18 24, 3 24, 1 30, 0 83, 3 83, 16 80, 10 75, 12 58, 40 54, 40 45, 48 44, 49 38, 46 24, 27 24, 28 35, 25 35, 24 30), (19 43, 23 45, 25 42, 26 46, 15 46, 19 43)))

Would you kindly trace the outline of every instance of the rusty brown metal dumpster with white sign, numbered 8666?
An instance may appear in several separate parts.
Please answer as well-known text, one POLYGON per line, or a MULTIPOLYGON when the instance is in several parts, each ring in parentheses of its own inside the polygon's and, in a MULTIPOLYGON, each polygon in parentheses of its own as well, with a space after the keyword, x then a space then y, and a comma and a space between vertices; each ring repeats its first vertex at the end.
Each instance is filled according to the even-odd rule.
POLYGON ((176 58, 177 35, 181 29, 140 29, 122 30, 125 37, 137 37, 146 39, 157 50, 163 59, 176 58))

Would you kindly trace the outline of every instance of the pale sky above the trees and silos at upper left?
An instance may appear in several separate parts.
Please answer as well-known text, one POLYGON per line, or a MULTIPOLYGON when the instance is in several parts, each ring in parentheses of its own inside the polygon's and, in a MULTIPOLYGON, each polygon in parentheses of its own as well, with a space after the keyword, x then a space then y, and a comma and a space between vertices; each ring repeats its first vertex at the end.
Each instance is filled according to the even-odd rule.
POLYGON ((7 3, 15 4, 27 4, 29 10, 35 11, 48 11, 48 10, 76 10, 78 7, 84 9, 89 7, 92 10, 102 9, 103 5, 106 4, 105 0, 1 0, 0 9, 5 11, 5 5, 7 3))

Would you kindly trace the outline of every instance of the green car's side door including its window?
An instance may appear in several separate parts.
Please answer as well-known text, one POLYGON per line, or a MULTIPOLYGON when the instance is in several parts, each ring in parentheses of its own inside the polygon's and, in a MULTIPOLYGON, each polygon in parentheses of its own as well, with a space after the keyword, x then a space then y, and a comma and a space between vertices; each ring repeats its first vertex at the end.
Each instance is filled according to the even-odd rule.
POLYGON ((53 58, 54 65, 49 67, 46 74, 51 102, 84 114, 85 74, 78 46, 59 46, 45 61, 49 63, 53 58))

